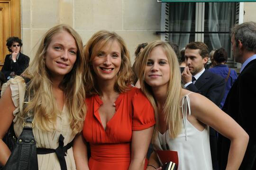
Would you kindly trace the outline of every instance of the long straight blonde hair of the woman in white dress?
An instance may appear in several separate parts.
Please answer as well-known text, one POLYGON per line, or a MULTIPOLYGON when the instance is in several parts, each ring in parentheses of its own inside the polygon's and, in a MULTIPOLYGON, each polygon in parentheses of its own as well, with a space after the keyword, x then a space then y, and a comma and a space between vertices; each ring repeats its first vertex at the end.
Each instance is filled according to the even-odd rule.
POLYGON ((163 113, 165 114, 165 123, 169 127, 170 136, 172 136, 172 138, 175 138, 180 133, 182 128, 182 115, 180 108, 180 98, 182 90, 181 72, 177 56, 172 47, 167 42, 162 42, 159 40, 151 42, 142 51, 138 58, 139 67, 137 67, 139 73, 139 80, 141 82, 141 90, 145 93, 155 109, 156 127, 153 135, 154 139, 156 137, 157 129, 159 126, 157 114, 158 107, 154 98, 152 88, 145 81, 145 68, 150 52, 152 51, 152 49, 158 46, 162 47, 162 49, 164 50, 170 66, 170 80, 166 89, 167 94, 165 99, 165 105, 163 106, 163 113))

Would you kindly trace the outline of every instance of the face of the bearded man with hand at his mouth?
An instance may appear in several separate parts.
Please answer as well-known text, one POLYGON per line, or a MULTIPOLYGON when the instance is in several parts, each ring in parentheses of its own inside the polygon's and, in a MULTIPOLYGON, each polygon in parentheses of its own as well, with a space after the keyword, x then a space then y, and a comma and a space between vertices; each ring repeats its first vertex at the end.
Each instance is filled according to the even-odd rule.
POLYGON ((185 62, 186 66, 189 67, 189 71, 194 76, 199 73, 203 68, 204 64, 207 63, 208 57, 202 58, 200 55, 200 49, 189 49, 185 50, 185 62))

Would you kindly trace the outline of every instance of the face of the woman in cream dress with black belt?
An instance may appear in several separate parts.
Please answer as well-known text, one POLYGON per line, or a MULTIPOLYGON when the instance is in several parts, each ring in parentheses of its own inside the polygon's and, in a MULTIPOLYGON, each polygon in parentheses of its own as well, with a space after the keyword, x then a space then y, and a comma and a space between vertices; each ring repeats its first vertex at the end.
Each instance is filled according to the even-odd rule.
POLYGON ((76 60, 77 46, 71 34, 66 31, 56 33, 49 43, 46 55, 46 67, 51 78, 63 78, 68 74, 76 60))

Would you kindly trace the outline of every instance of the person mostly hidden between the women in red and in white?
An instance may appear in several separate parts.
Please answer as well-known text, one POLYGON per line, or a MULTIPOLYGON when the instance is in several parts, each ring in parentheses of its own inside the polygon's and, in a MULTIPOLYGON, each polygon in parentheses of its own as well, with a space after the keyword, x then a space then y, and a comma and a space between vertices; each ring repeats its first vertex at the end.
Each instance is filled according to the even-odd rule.
POLYGON ((143 49, 145 49, 146 46, 147 46, 147 42, 138 44, 138 46, 135 50, 135 60, 134 60, 134 63, 132 65, 132 71, 133 71, 133 74, 134 74, 133 85, 135 85, 137 88, 139 88, 140 86, 139 86, 139 82, 137 82, 138 81, 138 76, 137 76, 136 63, 137 63, 137 59, 139 57, 139 54, 143 51, 143 49))

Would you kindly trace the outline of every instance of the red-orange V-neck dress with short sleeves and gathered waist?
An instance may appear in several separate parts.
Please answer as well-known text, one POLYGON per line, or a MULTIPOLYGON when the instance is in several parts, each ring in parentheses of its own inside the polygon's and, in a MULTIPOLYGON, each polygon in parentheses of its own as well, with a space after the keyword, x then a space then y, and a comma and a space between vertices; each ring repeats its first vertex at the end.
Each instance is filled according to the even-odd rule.
MULTIPOLYGON (((140 89, 133 87, 120 93, 116 100, 116 113, 101 124, 99 95, 86 99, 87 114, 83 137, 90 143, 90 170, 128 170, 131 158, 133 130, 143 130, 155 125, 154 109, 140 89)), ((143 140, 143 139, 141 139, 143 140)))

